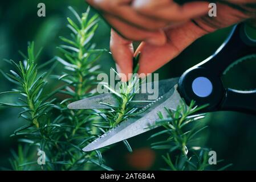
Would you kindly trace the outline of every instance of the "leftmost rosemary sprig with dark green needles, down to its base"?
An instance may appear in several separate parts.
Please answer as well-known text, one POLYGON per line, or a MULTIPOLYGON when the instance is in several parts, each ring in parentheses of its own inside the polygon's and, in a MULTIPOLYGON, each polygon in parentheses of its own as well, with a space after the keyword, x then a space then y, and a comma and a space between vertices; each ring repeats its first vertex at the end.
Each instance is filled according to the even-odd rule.
MULTIPOLYGON (((26 124, 15 130, 14 134, 11 135, 12 137, 22 137, 19 139, 20 142, 38 146, 41 151, 48 151, 46 145, 52 142, 51 137, 53 137, 55 132, 58 132, 59 126, 52 123, 50 119, 51 110, 54 106, 52 103, 55 99, 45 100, 43 94, 46 86, 45 78, 50 71, 41 75, 38 74, 38 66, 35 64, 38 56, 39 54, 35 55, 34 53, 34 43, 31 43, 27 50, 27 56, 23 55, 25 58, 24 61, 19 61, 18 64, 13 60, 9 61, 15 68, 15 71, 11 70, 11 74, 7 73, 5 75, 3 73, 3 75, 9 81, 18 85, 18 88, 3 93, 19 94, 20 98, 18 104, 2 102, 0 104, 7 107, 18 107, 19 109, 22 109, 21 113, 19 113, 19 117, 25 119, 26 124)), ((52 60, 44 65, 51 62, 52 60)), ((44 65, 42 65, 42 67, 44 65)), ((22 154, 21 148, 19 148, 18 154, 22 154)), ((21 160, 19 160, 19 163, 21 163, 21 160)), ((36 162, 29 162, 29 164, 33 163, 36 162)), ((14 164, 15 162, 13 163, 13 166, 17 168, 18 166, 14 164)))

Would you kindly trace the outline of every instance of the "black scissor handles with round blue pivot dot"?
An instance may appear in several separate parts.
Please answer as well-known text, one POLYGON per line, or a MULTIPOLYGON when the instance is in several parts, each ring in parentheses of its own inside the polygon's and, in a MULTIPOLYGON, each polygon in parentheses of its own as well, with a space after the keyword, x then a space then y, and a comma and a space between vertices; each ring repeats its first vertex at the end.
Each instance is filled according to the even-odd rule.
POLYGON ((256 54, 256 40, 246 33, 245 24, 233 28, 227 40, 208 59, 188 69, 180 78, 178 91, 189 104, 209 104, 208 111, 235 110, 256 114, 256 90, 225 89, 221 76, 238 59, 256 54))

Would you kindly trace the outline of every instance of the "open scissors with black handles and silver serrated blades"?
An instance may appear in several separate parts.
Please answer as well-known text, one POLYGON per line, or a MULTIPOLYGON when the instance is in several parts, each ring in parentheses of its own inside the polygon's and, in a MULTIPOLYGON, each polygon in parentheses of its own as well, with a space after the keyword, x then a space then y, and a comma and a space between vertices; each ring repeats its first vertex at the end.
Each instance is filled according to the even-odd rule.
MULTIPOLYGON (((187 105, 196 101, 196 105, 208 104, 205 111, 241 111, 256 114, 256 90, 242 91, 224 88, 221 76, 239 60, 246 56, 256 58, 256 40, 246 32, 245 24, 237 24, 225 42, 208 59, 185 71, 181 77, 161 80, 159 98, 151 104, 138 104, 135 107, 148 108, 143 114, 128 118, 101 137, 83 148, 92 151, 125 139, 135 137, 157 127, 157 113, 165 113, 164 107, 175 110, 184 100, 187 105), (152 126, 152 127, 150 127, 152 126)), ((138 93, 134 100, 145 100, 148 93, 138 93)), ((113 94, 105 93, 85 98, 68 105, 69 109, 107 109, 101 102, 117 105, 113 94)))

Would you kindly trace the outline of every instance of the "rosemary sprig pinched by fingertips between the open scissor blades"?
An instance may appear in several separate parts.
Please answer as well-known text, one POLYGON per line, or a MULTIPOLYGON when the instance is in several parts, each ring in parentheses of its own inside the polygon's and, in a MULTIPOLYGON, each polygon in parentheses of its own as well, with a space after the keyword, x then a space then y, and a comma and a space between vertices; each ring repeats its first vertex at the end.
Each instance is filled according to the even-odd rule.
MULTIPOLYGON (((135 102, 148 101, 133 101, 133 97, 137 93, 140 84, 145 81, 144 79, 141 80, 136 74, 137 70, 139 69, 138 60, 139 55, 137 55, 133 60, 135 65, 135 68, 133 69, 134 74, 128 82, 121 82, 121 84, 119 84, 119 86, 117 87, 117 90, 111 88, 108 83, 103 83, 103 86, 107 88, 112 94, 114 94, 114 96, 116 96, 118 105, 113 106, 108 103, 101 103, 103 105, 110 106, 111 109, 105 109, 99 113, 100 116, 103 118, 103 122, 97 123, 98 127, 102 127, 103 129, 111 129, 117 126, 119 123, 127 120, 129 117, 133 117, 134 115, 138 115, 146 111, 139 110, 139 108, 136 107, 135 102)), ((112 70, 118 76, 118 73, 114 69, 112 70)), ((128 141, 124 140, 123 143, 125 144, 125 147, 127 147, 127 150, 129 152, 132 152, 132 148, 129 145, 128 141)))

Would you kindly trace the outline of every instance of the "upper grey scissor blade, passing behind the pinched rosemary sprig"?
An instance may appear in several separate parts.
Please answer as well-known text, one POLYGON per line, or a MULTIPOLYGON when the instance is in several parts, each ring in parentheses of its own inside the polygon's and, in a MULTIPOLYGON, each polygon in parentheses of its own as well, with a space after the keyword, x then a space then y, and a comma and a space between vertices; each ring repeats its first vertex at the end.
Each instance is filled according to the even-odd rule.
MULTIPOLYGON (((155 81, 155 82, 149 82, 147 84, 142 84, 140 86, 141 90, 140 93, 137 93, 135 97, 133 98, 134 101, 147 101, 150 96, 152 96, 153 93, 152 88, 155 88, 155 86, 159 87, 158 90, 158 97, 163 96, 165 93, 167 93, 172 87, 178 82, 179 78, 170 78, 167 80, 161 80, 161 81, 155 81)), ((152 102, 154 100, 151 100, 152 102)), ((104 93, 99 94, 97 96, 92 96, 85 98, 80 101, 72 102, 68 105, 68 109, 109 109, 110 106, 104 105, 101 102, 118 106, 117 98, 114 96, 114 94, 111 93, 104 93)), ((143 108, 147 106, 148 102, 136 102, 137 108, 143 108)))

